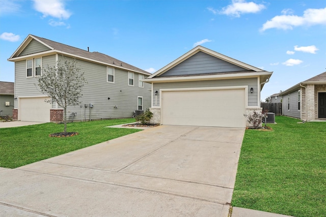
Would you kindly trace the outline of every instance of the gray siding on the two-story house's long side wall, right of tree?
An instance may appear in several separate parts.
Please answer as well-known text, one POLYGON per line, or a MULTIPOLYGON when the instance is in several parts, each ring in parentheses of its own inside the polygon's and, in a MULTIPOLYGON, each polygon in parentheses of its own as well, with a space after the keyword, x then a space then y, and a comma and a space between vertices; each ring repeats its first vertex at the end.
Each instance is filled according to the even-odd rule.
POLYGON ((110 83, 106 81, 106 66, 104 65, 77 60, 77 67, 80 68, 80 72, 84 72, 88 83, 85 84, 83 97, 80 99, 83 107, 69 106, 67 118, 71 113, 77 112, 74 120, 81 120, 82 109, 83 120, 85 118, 89 120, 132 117, 134 110, 138 110, 138 97, 143 97, 143 110, 150 108, 151 85, 144 83, 144 87, 139 87, 137 73, 134 73, 134 85, 129 86, 128 71, 115 69, 114 83, 110 83), (90 103, 94 106, 91 111, 90 103), (86 109, 85 104, 88 106, 86 109))

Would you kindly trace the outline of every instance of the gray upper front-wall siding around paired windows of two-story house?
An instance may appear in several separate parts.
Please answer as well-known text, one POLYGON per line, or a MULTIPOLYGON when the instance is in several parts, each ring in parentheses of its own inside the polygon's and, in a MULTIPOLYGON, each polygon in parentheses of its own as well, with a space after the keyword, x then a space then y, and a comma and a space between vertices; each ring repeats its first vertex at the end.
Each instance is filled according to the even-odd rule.
MULTIPOLYGON (((56 55, 42 57, 42 71, 56 63, 56 55)), ((34 72, 33 72, 34 75, 34 72)), ((26 60, 15 62, 15 97, 43 96, 38 88, 37 77, 26 78, 26 60)))

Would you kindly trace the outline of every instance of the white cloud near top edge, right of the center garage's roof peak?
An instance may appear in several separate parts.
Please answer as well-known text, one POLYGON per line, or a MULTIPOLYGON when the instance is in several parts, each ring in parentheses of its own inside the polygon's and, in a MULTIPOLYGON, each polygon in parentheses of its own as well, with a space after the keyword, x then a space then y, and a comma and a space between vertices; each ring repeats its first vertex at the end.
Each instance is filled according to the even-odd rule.
POLYGON ((232 0, 232 4, 224 7, 221 14, 240 17, 241 14, 258 13, 266 7, 262 4, 254 2, 246 2, 244 0, 232 0))

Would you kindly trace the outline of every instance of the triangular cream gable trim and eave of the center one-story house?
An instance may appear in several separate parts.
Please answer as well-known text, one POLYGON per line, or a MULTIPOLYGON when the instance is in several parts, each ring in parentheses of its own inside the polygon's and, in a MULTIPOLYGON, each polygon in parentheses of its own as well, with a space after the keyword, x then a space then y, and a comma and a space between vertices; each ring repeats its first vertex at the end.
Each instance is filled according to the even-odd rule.
MULTIPOLYGON (((271 76, 273 72, 267 72, 265 70, 253 67, 246 63, 242 63, 239 60, 233 59, 221 53, 215 52, 213 50, 207 49, 202 46, 197 46, 192 50, 188 51, 187 53, 183 54, 176 60, 172 61, 172 63, 168 64, 167 66, 163 67, 162 69, 158 70, 151 76, 149 76, 144 81, 152 83, 152 82, 175 82, 175 81, 191 81, 191 80, 210 80, 210 79, 227 79, 227 78, 242 78, 248 76, 260 76, 260 82, 264 82, 271 76), (164 73, 168 72, 172 68, 176 67, 177 65, 181 64, 186 59, 194 56, 199 52, 204 52, 209 54, 213 57, 219 58, 221 60, 227 61, 230 64, 238 66, 242 68, 241 71, 226 71, 226 72, 214 72, 214 73, 207 73, 207 74, 189 74, 189 75, 178 75, 178 76, 162 76, 164 73)), ((261 84, 261 87, 264 83, 261 84)))

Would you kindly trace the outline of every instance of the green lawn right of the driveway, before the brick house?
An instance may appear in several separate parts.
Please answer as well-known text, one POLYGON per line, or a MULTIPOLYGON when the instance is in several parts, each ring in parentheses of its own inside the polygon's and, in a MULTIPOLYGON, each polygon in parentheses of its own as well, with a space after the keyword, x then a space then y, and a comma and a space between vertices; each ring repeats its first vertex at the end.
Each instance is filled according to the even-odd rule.
POLYGON ((246 130, 232 206, 326 216, 326 122, 276 122, 273 131, 246 130))

